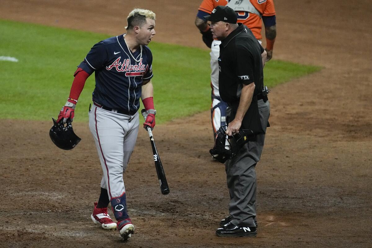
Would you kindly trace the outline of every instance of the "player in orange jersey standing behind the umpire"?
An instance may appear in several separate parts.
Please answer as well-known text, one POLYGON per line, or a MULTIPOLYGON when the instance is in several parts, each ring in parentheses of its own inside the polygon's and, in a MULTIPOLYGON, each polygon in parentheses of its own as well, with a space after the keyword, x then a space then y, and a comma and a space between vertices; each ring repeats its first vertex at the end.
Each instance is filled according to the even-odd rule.
POLYGON ((195 25, 202 33, 203 42, 211 48, 211 88, 212 107, 211 119, 214 137, 220 126, 226 124, 227 104, 221 100, 218 87, 218 57, 221 41, 212 38, 211 29, 205 16, 212 13, 216 6, 228 6, 235 10, 238 22, 246 25, 261 43, 262 22, 265 26, 267 58, 269 61, 273 56, 273 46, 276 38, 276 17, 273 0, 203 0, 195 19, 195 25))

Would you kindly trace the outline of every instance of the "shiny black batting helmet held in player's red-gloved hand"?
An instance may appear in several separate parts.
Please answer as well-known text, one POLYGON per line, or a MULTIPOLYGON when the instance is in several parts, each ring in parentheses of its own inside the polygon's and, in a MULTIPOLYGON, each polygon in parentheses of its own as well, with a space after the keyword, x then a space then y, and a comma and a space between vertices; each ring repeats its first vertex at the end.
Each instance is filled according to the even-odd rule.
POLYGON ((54 145, 64 150, 71 150, 81 141, 72 129, 70 119, 67 119, 66 126, 63 125, 62 120, 58 123, 54 118, 52 120, 53 126, 49 131, 49 136, 54 145))

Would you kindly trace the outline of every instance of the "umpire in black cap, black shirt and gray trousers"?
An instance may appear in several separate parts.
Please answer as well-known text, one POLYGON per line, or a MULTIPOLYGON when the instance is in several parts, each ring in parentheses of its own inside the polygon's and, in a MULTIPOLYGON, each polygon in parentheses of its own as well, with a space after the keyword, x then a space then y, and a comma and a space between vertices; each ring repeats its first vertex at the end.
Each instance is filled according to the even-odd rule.
POLYGON ((220 47, 219 92, 228 103, 226 134, 250 129, 255 136, 226 161, 227 187, 230 191, 229 216, 220 222, 217 236, 256 236, 256 171, 260 160, 266 127, 269 126, 270 105, 263 85, 266 51, 251 30, 237 23, 230 7, 217 6, 211 15, 213 38, 220 47))

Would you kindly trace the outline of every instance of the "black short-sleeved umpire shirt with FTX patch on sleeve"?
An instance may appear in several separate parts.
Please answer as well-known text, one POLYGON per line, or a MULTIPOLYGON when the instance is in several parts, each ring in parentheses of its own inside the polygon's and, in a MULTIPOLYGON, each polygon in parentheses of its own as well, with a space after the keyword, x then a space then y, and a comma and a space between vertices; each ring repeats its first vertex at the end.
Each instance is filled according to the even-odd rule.
POLYGON ((262 56, 264 49, 250 29, 242 23, 219 45, 219 94, 231 107, 228 121, 236 114, 243 84, 255 84, 253 99, 243 118, 241 129, 264 133, 257 105, 257 95, 263 87, 262 56))

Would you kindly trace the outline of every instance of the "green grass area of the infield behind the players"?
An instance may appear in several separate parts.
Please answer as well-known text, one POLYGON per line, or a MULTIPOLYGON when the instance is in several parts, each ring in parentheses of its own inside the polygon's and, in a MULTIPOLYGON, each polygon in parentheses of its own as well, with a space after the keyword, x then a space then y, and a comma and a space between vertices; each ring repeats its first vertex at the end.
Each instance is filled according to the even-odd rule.
MULTIPOLYGON (((123 31, 124 32, 124 31, 123 31)), ((2 119, 49 120, 67 100, 76 66, 98 41, 110 35, 0 20, 2 119)), ((195 37, 200 38, 195 35, 195 37)), ((157 123, 193 115, 210 107, 207 50, 151 42, 157 123)), ((285 61, 270 61, 265 84, 273 87, 320 70, 285 61)), ((88 78, 76 107, 75 121, 87 121, 94 75, 88 78)))

